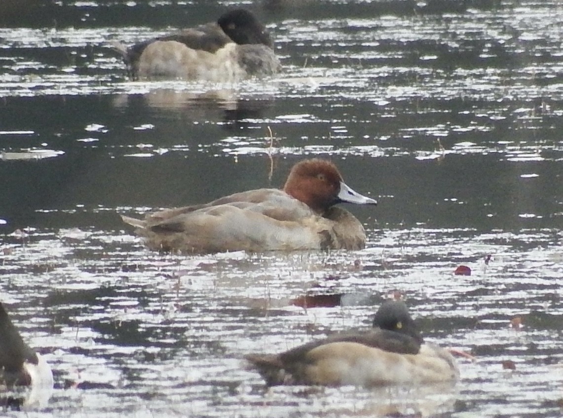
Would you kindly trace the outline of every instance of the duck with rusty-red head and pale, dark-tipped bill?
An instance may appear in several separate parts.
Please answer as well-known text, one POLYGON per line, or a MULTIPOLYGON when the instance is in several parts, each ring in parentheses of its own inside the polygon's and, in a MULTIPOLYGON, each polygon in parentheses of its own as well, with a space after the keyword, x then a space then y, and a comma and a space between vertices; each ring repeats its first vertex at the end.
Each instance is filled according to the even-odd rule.
POLYGON ((283 190, 260 188, 211 203, 165 209, 144 220, 123 216, 152 250, 221 251, 361 249, 364 227, 337 203, 377 204, 343 181, 336 165, 311 159, 291 169, 283 190))

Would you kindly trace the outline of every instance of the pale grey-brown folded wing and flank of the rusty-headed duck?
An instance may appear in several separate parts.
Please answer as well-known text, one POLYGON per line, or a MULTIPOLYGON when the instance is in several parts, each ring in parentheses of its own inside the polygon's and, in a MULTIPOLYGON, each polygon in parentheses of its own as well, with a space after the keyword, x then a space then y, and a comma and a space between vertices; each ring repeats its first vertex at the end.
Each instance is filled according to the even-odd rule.
POLYGON ((187 253, 323 249, 332 227, 331 221, 277 189, 165 209, 144 221, 123 220, 137 227, 149 248, 187 253))

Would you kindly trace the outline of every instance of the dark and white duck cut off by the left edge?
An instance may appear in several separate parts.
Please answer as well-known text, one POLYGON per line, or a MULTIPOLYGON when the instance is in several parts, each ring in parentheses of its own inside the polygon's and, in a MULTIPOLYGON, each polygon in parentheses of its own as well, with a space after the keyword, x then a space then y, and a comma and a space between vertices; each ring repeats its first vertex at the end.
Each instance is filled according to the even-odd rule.
POLYGON ((46 406, 53 389, 51 367, 21 339, 2 303, 0 336, 0 390, 9 392, 0 393, 0 404, 15 409, 46 406))

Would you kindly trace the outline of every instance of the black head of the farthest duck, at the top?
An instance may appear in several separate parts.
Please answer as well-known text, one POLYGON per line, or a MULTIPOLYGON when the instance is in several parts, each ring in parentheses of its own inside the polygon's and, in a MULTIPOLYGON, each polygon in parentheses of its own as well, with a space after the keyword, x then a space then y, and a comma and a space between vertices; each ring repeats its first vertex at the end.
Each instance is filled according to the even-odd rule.
POLYGON ((222 15, 217 24, 225 34, 239 45, 262 44, 273 48, 270 33, 256 17, 243 8, 231 10, 222 15))

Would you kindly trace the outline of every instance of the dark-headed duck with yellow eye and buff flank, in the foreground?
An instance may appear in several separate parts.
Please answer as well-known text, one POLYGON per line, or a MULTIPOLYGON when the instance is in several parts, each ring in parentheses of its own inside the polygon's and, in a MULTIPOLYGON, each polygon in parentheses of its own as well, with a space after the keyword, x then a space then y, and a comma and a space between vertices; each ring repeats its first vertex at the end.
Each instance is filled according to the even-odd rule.
POLYGON ((268 386, 381 386, 457 379, 452 355, 423 341, 403 302, 383 303, 373 326, 370 331, 333 334, 281 354, 245 358, 268 386))

